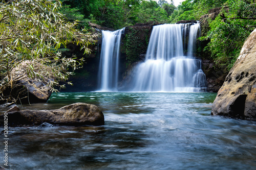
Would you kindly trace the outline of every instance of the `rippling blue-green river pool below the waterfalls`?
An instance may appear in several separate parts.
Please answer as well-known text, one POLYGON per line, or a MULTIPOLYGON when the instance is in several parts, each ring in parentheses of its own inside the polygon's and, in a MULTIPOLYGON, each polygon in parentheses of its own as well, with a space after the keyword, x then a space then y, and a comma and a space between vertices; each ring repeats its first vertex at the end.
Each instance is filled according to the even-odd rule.
POLYGON ((19 106, 95 104, 105 125, 10 127, 10 168, 254 169, 256 123, 211 116, 216 94, 62 92, 48 103, 19 106))

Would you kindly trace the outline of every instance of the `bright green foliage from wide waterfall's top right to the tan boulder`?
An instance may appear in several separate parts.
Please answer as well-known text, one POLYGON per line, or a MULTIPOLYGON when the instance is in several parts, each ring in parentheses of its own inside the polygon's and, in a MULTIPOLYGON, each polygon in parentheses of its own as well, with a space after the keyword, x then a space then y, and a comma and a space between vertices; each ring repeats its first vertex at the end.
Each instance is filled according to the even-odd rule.
POLYGON ((204 49, 205 53, 210 53, 216 64, 230 69, 239 56, 245 39, 256 26, 255 1, 186 0, 169 18, 173 23, 178 20, 199 20, 202 15, 218 7, 228 7, 228 12, 221 10, 218 17, 209 20, 210 30, 207 36, 200 39, 209 41, 204 49))

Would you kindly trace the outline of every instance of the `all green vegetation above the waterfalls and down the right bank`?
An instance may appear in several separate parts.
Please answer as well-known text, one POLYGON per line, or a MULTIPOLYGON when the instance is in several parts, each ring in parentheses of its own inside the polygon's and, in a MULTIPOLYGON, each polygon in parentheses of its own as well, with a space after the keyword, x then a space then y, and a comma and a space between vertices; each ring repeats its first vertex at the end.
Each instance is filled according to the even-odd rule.
MULTIPOLYGON (((75 9, 73 11, 83 15, 79 20, 83 20, 84 28, 91 21, 113 29, 151 21, 175 23, 179 20, 199 20, 213 8, 226 7, 214 20, 208 20, 209 30, 204 32, 204 37, 200 40, 209 41, 203 51, 210 54, 217 65, 224 65, 228 69, 236 61, 245 39, 256 26, 255 0, 185 0, 178 7, 174 6, 173 1, 168 4, 164 0, 158 2, 153 0, 62 0, 62 2, 68 5, 68 8, 75 9)), ((73 15, 73 18, 78 16, 73 15)), ((137 60, 135 57, 137 51, 132 50, 134 48, 131 46, 136 40, 131 41, 130 48, 127 48, 129 38, 126 37, 126 55, 129 56, 127 60, 133 62, 137 60)))

